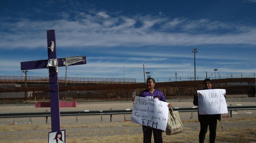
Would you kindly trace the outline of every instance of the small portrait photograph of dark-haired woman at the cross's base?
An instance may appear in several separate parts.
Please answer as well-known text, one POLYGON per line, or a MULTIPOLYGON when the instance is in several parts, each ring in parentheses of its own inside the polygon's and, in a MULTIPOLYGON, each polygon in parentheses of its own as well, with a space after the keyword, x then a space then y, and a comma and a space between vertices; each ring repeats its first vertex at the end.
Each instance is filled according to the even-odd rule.
POLYGON ((48 143, 65 143, 65 130, 60 130, 58 132, 49 132, 48 143))

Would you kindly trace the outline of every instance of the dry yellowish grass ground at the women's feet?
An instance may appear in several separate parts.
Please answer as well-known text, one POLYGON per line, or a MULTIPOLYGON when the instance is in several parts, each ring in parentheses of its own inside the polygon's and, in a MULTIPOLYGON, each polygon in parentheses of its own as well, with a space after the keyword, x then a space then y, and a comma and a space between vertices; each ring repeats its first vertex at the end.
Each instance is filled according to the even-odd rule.
MULTIPOLYGON (((198 143, 200 130, 197 119, 182 121, 184 132, 165 135, 164 143, 198 143)), ((218 123, 216 143, 256 143, 255 117, 223 118, 223 129, 218 123)), ((132 122, 99 122, 62 124, 66 143, 142 143, 142 127, 132 122)), ((0 125, 1 143, 47 143, 51 124, 0 125)), ((209 139, 209 132, 206 140, 209 139)), ((152 138, 153 140, 153 138, 152 138)), ((154 141, 152 141, 154 142, 154 141)), ((207 143, 207 141, 206 141, 207 143)))

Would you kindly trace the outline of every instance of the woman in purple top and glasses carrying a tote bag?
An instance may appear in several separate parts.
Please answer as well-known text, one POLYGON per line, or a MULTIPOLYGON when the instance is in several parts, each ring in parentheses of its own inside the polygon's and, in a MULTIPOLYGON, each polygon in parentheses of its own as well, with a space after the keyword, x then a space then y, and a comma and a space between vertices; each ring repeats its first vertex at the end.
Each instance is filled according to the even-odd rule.
MULTIPOLYGON (((163 95, 162 91, 155 89, 155 80, 153 78, 148 78, 146 82, 146 90, 143 90, 140 93, 140 97, 145 97, 145 98, 151 98, 151 99, 156 99, 160 101, 165 101, 165 96, 163 95)), ((132 102, 136 100, 136 97, 132 98, 132 102)), ((168 104, 168 108, 171 108, 171 104, 168 104)), ((147 127, 142 125, 142 130, 143 130, 143 143, 151 143, 151 137, 152 137, 152 132, 154 135, 154 142, 155 143, 162 143, 162 130, 155 129, 152 127, 147 127)))

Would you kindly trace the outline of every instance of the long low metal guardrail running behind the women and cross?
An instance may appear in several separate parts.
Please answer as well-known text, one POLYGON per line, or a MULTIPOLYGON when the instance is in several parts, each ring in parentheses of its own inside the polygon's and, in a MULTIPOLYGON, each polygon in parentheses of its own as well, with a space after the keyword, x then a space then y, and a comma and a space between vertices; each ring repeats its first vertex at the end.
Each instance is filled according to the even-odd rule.
MULTIPOLYGON (((198 111, 198 107, 186 107, 186 108, 173 108, 174 111, 179 112, 195 112, 198 111)), ((230 117, 232 117, 233 110, 256 110, 256 105, 253 106, 228 106, 230 117)), ((110 115, 110 122, 112 121, 112 115, 116 114, 132 114, 132 109, 122 110, 85 110, 85 111, 61 111, 61 116, 87 116, 87 115, 110 115)), ((0 118, 20 118, 20 117, 48 117, 51 116, 51 112, 23 112, 23 113, 0 113, 0 118)))

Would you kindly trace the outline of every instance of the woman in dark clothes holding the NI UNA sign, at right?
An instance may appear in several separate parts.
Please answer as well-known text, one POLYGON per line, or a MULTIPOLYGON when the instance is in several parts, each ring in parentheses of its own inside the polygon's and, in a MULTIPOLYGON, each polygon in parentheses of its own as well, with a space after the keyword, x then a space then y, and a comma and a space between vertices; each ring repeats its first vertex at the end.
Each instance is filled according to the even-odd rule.
MULTIPOLYGON (((203 90, 212 89, 211 79, 204 79, 203 84, 204 84, 203 90)), ((198 96, 199 96, 199 93, 196 93, 194 95, 193 104, 195 106, 198 106, 198 96)), ((226 98, 226 93, 225 93, 224 97, 226 98)), ((210 134, 209 134, 210 143, 215 142, 217 119, 220 120, 220 117, 221 117, 220 114, 201 115, 201 114, 199 114, 199 111, 198 111, 198 121, 200 122, 199 143, 204 143, 204 139, 205 139, 206 132, 208 130, 208 126, 209 126, 209 131, 210 131, 210 134)))

